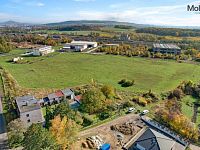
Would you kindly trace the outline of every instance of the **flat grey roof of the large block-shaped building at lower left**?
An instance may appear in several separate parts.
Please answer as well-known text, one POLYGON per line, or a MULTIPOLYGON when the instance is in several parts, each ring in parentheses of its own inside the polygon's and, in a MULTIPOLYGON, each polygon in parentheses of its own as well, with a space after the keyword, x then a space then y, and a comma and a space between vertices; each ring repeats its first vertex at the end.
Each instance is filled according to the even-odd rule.
POLYGON ((31 95, 16 97, 16 103, 20 113, 41 109, 38 100, 31 95))

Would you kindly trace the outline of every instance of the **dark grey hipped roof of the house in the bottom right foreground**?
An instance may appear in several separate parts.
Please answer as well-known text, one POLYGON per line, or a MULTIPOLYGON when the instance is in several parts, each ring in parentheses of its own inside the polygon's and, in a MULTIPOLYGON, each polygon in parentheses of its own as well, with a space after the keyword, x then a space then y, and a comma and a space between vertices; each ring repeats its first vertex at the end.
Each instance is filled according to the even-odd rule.
POLYGON ((186 146, 152 128, 146 128, 126 145, 126 150, 185 150, 186 146))

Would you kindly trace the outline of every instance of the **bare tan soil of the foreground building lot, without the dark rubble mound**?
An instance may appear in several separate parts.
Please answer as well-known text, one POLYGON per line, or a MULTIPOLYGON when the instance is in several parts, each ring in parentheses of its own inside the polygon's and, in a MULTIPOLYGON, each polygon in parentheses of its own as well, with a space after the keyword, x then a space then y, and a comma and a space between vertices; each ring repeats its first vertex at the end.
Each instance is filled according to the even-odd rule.
POLYGON ((87 150, 87 149, 82 148, 82 143, 86 141, 87 137, 98 135, 103 139, 103 141, 105 143, 111 144, 111 149, 121 150, 122 146, 124 144, 126 144, 134 135, 136 135, 143 128, 143 125, 144 124, 140 120, 139 115, 136 115, 136 114, 133 114, 133 113, 128 114, 126 116, 119 117, 119 118, 117 118, 117 119, 115 119, 111 122, 104 123, 104 124, 99 125, 97 127, 81 131, 79 133, 80 140, 77 141, 74 148, 80 149, 80 150, 87 150), (135 126, 134 126, 135 132, 132 135, 123 135, 122 133, 119 133, 117 131, 113 131, 110 128, 112 125, 116 125, 116 124, 121 125, 121 124, 124 124, 124 123, 127 123, 127 122, 134 122, 135 123, 135 126), (123 136, 122 142, 119 142, 119 140, 117 138, 117 135, 119 135, 119 134, 123 136))

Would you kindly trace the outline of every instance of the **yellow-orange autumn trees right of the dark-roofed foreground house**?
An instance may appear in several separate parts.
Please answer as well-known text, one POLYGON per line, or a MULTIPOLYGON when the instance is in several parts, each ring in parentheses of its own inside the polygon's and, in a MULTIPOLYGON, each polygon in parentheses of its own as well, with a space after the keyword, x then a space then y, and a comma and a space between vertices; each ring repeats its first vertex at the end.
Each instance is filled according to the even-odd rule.
POLYGON ((197 141, 198 129, 196 125, 181 113, 180 108, 181 105, 176 99, 166 100, 164 106, 157 110, 155 118, 183 137, 197 141))

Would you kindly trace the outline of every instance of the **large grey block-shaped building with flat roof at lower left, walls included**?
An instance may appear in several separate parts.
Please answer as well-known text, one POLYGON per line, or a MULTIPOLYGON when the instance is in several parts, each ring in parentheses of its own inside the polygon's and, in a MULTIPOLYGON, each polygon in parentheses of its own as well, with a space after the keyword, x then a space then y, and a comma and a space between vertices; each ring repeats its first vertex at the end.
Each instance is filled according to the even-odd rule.
POLYGON ((27 126, 32 123, 44 123, 41 106, 34 96, 17 97, 16 104, 20 119, 27 126))

